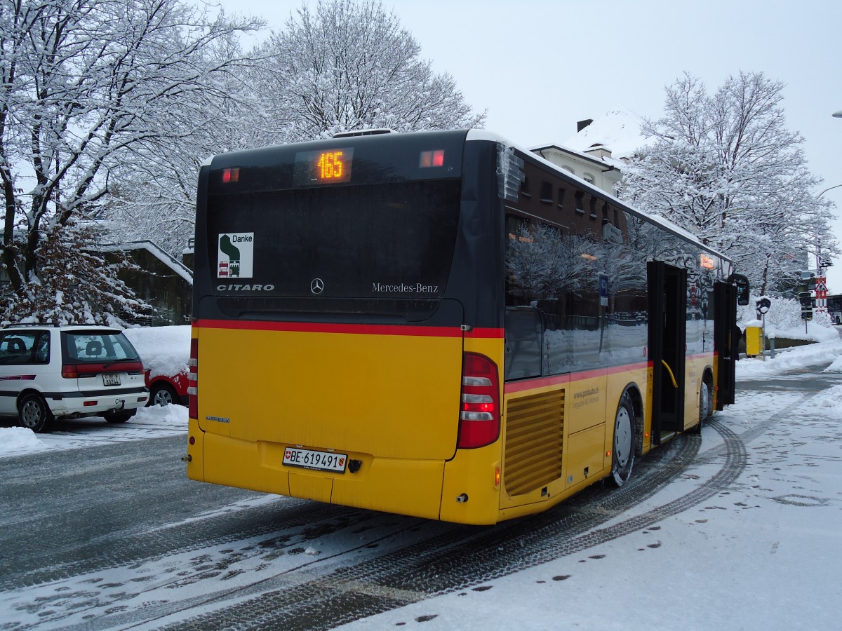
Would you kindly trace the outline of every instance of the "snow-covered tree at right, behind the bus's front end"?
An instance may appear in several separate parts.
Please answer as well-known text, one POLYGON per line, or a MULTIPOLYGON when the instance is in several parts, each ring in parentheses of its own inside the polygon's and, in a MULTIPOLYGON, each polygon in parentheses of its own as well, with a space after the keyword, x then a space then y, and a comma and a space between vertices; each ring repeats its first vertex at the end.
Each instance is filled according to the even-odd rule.
POLYGON ((686 75, 666 88, 654 138, 624 169, 622 196, 732 257, 761 294, 786 286, 817 239, 835 252, 832 204, 813 193, 803 139, 786 129, 783 85, 762 72, 716 93, 686 75), (801 252, 801 254, 799 254, 801 252))

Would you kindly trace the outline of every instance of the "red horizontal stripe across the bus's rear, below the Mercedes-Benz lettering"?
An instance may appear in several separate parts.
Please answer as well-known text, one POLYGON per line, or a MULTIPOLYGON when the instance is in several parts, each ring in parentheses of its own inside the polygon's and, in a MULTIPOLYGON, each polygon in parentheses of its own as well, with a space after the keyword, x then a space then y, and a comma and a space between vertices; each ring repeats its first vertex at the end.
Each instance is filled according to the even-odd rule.
POLYGON ((329 324, 325 322, 269 322, 253 320, 197 320, 193 326, 203 329, 239 331, 293 331, 296 333, 350 333, 356 335, 407 335, 417 337, 503 338, 503 329, 472 329, 458 326, 401 326, 367 324, 329 324))

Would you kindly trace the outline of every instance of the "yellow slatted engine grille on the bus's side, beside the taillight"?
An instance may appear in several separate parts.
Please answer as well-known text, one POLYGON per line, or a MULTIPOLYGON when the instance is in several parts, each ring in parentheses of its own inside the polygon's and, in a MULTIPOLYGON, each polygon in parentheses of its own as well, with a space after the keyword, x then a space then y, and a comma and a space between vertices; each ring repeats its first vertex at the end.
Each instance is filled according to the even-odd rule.
POLYGON ((510 399, 506 406, 504 485, 519 496, 562 477, 564 390, 510 399))

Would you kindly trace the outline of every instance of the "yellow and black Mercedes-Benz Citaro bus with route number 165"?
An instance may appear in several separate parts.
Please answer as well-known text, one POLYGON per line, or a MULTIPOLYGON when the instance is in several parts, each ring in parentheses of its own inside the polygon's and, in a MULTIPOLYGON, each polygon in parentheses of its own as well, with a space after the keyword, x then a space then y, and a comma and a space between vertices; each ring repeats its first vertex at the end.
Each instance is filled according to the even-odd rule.
POLYGON ((189 478, 470 524, 622 485, 733 403, 735 279, 484 130, 215 156, 189 478))

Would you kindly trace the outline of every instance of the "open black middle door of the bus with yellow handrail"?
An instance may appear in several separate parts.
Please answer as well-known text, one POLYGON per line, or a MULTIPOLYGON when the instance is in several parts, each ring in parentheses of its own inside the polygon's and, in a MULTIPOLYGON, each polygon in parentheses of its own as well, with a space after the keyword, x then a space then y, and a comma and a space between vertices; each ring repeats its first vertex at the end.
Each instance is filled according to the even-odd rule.
POLYGON ((684 429, 687 270, 647 262, 648 355, 653 363, 652 443, 684 429))

